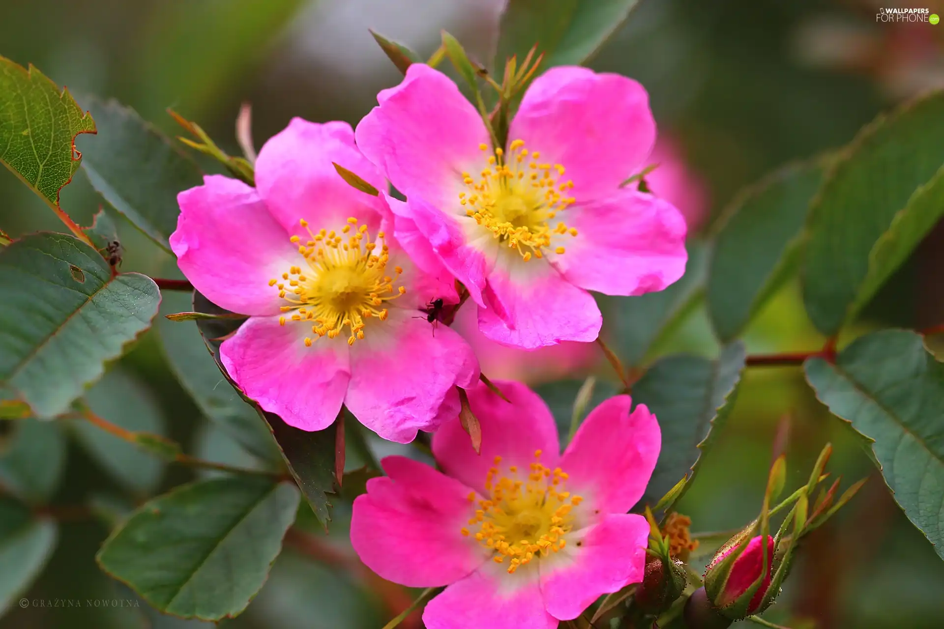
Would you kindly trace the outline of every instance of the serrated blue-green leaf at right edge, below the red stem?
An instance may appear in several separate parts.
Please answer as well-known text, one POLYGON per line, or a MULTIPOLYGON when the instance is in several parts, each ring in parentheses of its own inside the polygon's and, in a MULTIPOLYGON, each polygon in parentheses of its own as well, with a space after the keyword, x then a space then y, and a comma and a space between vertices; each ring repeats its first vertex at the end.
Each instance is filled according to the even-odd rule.
POLYGON ((819 401, 873 441, 895 500, 944 558, 944 363, 920 335, 883 330, 805 370, 819 401))

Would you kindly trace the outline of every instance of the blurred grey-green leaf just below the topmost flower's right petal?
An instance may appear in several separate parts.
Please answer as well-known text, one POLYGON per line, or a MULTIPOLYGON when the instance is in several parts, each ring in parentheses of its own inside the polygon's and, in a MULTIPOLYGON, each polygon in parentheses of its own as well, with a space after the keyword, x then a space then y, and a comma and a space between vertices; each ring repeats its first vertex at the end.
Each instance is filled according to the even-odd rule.
POLYGON ((701 298, 708 258, 708 245, 689 241, 685 274, 666 290, 638 297, 605 297, 606 337, 623 362, 631 367, 643 364, 649 348, 665 336, 701 298))

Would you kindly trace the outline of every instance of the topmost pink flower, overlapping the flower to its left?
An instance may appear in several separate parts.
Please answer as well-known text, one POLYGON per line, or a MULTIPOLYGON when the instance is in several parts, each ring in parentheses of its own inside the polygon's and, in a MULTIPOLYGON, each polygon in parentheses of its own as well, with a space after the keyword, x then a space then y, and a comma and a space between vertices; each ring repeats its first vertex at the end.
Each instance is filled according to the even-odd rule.
POLYGON ((358 124, 363 154, 406 194, 396 238, 440 265, 479 308, 489 339, 533 349, 597 339, 588 290, 662 290, 685 266, 685 223, 665 200, 620 183, 647 164, 655 123, 632 79, 559 67, 538 77, 491 148, 456 85, 414 63, 358 124))

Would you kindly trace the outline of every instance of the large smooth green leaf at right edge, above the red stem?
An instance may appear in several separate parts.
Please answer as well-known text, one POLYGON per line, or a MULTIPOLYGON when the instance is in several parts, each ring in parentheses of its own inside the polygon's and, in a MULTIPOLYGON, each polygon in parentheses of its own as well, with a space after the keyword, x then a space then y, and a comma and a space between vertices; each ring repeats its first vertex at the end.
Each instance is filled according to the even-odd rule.
MULTIPOLYGON (((915 207, 907 213, 939 211, 934 207, 941 203, 939 185, 922 187, 942 164, 944 91, 879 116, 836 159, 810 207, 802 271, 803 301, 820 332, 834 335, 848 321, 867 284, 869 254, 899 212, 910 204, 915 207), (923 193, 934 196, 922 201, 923 193)), ((884 261, 907 257, 928 218, 909 219, 908 238, 894 245, 901 251, 884 261)), ((875 282, 891 271, 871 272, 865 290, 874 290, 875 282)))

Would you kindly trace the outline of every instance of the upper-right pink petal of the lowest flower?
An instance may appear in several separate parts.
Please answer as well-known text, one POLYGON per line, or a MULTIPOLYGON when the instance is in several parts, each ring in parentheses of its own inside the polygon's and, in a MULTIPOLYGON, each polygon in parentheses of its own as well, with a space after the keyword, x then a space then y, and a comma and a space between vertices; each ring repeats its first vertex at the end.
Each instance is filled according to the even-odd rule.
POLYGON ((567 445, 560 466, 567 487, 595 512, 626 513, 643 495, 659 458, 662 434, 645 405, 617 395, 590 411, 567 445))

